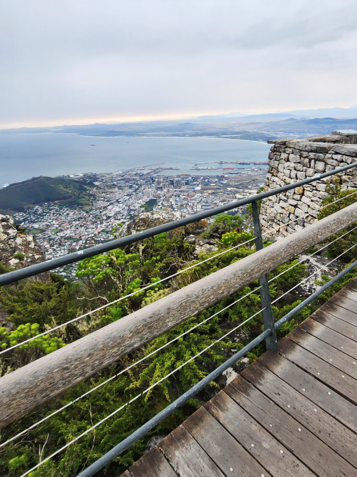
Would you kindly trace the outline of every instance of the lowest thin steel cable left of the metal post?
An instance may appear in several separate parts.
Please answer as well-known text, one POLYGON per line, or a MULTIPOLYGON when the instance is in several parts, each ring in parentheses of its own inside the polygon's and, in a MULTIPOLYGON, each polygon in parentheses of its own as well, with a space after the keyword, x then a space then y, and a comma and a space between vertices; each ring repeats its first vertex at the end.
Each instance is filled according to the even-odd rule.
POLYGON ((226 334, 224 334, 223 336, 221 336, 220 338, 218 338, 215 342, 209 344, 208 346, 206 346, 206 348, 204 348, 203 350, 201 350, 199 353, 195 354, 195 356, 192 356, 190 359, 188 359, 185 363, 182 363, 180 364, 177 368, 175 368, 173 371, 170 371, 170 373, 166 374, 164 377, 160 378, 156 383, 154 384, 151 384, 147 389, 145 389, 145 391, 143 391, 142 393, 140 394, 137 394, 135 397, 133 397, 132 399, 130 399, 128 402, 126 402, 125 404, 122 404, 118 409, 116 409, 115 411, 113 411, 112 413, 110 413, 109 415, 107 415, 106 417, 104 417, 103 419, 101 419, 100 421, 98 421, 96 424, 92 425, 91 427, 89 427, 89 429, 87 429, 86 431, 82 432, 79 436, 75 437, 74 439, 72 439, 70 442, 68 442, 67 444, 65 444, 64 446, 62 446, 60 449, 58 449, 57 451, 53 452, 50 456, 46 457, 45 459, 43 459, 39 464, 37 464, 36 466, 32 467, 30 470, 28 470, 27 472, 25 472, 24 474, 22 474, 20 477, 25 477, 27 475, 30 474, 30 472, 32 472, 33 470, 37 469, 38 467, 40 467, 42 464, 44 464, 45 462, 47 462, 48 460, 50 460, 52 457, 55 457, 57 456, 60 452, 62 452, 64 449, 66 449, 67 447, 69 447, 71 444, 75 443, 76 441, 78 441, 81 437, 85 436, 86 434, 88 434, 89 432, 93 431, 96 427, 98 427, 99 425, 103 424, 103 422, 107 421, 110 417, 113 417, 114 415, 118 414, 119 411, 121 411, 122 409, 124 409, 124 407, 128 406, 129 404, 133 403, 134 401, 136 401, 140 396, 144 395, 144 394, 147 394, 149 391, 151 391, 151 389, 153 389, 155 386, 157 386, 158 384, 162 383, 165 379, 167 379, 169 376, 171 376, 172 374, 176 373, 178 370, 180 370, 181 368, 183 368, 184 366, 186 366, 186 364, 190 363, 191 361, 193 361, 194 359, 196 359, 198 356, 200 356, 201 354, 205 353, 206 351, 208 351, 210 348, 212 348, 215 344, 217 344, 218 342, 222 341, 224 338, 227 338, 227 336, 231 333, 233 333, 234 331, 238 330, 238 328, 240 328, 241 326, 243 326, 244 324, 246 324, 248 321, 250 321, 252 318, 254 318, 255 316, 257 316, 259 313, 261 313, 263 310, 265 310, 265 308, 262 308, 261 310, 257 311, 256 313, 254 313, 252 316, 250 316, 249 318, 247 318, 247 320, 243 321, 242 323, 239 323, 239 325, 237 325, 236 327, 234 327, 232 330, 230 330, 229 332, 227 332, 226 334))

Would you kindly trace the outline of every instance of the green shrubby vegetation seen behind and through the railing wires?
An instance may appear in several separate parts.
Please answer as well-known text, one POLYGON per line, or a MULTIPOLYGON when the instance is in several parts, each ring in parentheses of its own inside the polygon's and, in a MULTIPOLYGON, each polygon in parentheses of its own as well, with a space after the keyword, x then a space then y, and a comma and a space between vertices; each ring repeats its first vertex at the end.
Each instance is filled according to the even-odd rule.
MULTIPOLYGON (((347 192, 350 193, 350 191, 342 191, 337 182, 332 182, 326 191, 327 197, 323 202, 326 205, 337 198, 347 196, 347 192)), ((331 207, 324 208, 320 218, 349 205, 355 200, 356 196, 350 196, 331 207)), ((53 326, 67 322, 80 314, 94 310, 101 305, 119 298, 123 298, 123 300, 2 354, 0 357, 1 375, 30 363, 40 356, 51 353, 81 336, 159 300, 172 291, 254 253, 254 241, 244 243, 253 238, 251 232, 247 230, 248 227, 250 230, 252 229, 249 221, 249 218, 242 219, 228 215, 216 218, 208 230, 200 236, 200 239, 215 243, 218 252, 230 250, 219 256, 216 256, 217 251, 199 252, 196 262, 211 257, 212 259, 165 281, 160 280, 195 263, 193 257, 196 256, 197 244, 195 239, 192 239, 192 235, 189 236, 189 233, 184 229, 173 231, 170 235, 163 233, 131 246, 85 259, 78 264, 76 273, 78 281, 76 282, 69 282, 51 274, 48 280, 23 280, 14 285, 3 287, 0 289, 3 321, 3 326, 0 328, 2 350, 36 336, 53 326), (238 244, 243 245, 231 249, 238 244), (151 286, 143 290, 143 287, 147 285, 151 286), (124 298, 133 292, 135 293, 124 298)), ((340 234, 342 235, 342 233, 340 234)), ((349 235, 348 239, 337 240, 333 246, 327 248, 327 255, 337 257, 350 246, 349 241, 356 240, 352 235, 349 235)), ((269 246, 269 244, 270 242, 265 242, 265 246, 269 246)), ((321 253, 326 254, 326 249, 324 250, 321 253)), ((342 257, 345 263, 355 258, 356 252, 353 251, 350 255, 342 257)), ((344 266, 341 262, 340 265, 344 266)), ((9 270, 8 266, 3 268, 3 271, 7 270, 9 270)), ((278 298, 294 285, 297 285, 307 274, 306 265, 299 263, 296 258, 271 272, 269 279, 284 271, 286 273, 270 283, 270 293, 273 299, 278 298), (295 266, 290 268, 292 265, 295 266)), ((301 311, 294 320, 283 325, 278 331, 278 337, 280 338, 297 326, 301 320, 320 306, 323 301, 326 301, 336 290, 342 288, 356 274, 348 274, 343 283, 331 287, 319 297, 317 302, 301 311)), ((324 280, 328 280, 327 276, 322 277, 322 281, 324 280)), ((15 477, 43 461, 75 436, 119 408, 120 405, 126 404, 131 398, 142 393, 167 373, 214 343, 228 330, 237 326, 238 323, 257 313, 260 310, 258 291, 238 301, 226 311, 218 313, 191 332, 183 334, 196 324, 219 312, 222 308, 244 297, 257 286, 258 281, 251 283, 208 310, 191 317, 135 353, 118 360, 111 369, 77 384, 69 391, 40 406, 30 415, 24 416, 2 429, 1 441, 4 442, 34 422, 78 398, 81 394, 85 394, 91 388, 103 383, 111 376, 120 373, 130 364, 148 356, 138 366, 133 366, 128 372, 119 374, 115 379, 99 387, 93 393, 79 399, 76 403, 45 420, 27 434, 2 447, 0 449, 1 475, 15 477), (151 355, 153 351, 181 334, 182 336, 177 341, 151 355)), ((284 316, 304 299, 304 291, 299 288, 297 290, 298 292, 295 290, 288 293, 276 303, 276 306, 273 306, 275 319, 284 316)), ((46 461, 31 473, 31 477, 69 477, 76 475, 197 383, 218 364, 225 361, 228 356, 241 349, 246 342, 251 341, 261 330, 262 318, 260 314, 257 314, 236 332, 228 335, 227 339, 215 344, 206 353, 183 366, 169 378, 153 387, 148 393, 123 407, 118 414, 76 441, 60 455, 46 461)), ((248 354, 248 359, 250 361, 254 360, 262 352, 264 352, 264 347, 260 345, 248 354)), ((242 367, 243 363, 237 363, 236 371, 239 371, 242 367)), ((202 402, 209 399, 219 389, 219 386, 219 382, 211 383, 209 388, 201 392, 195 399, 191 399, 151 433, 131 446, 127 452, 111 464, 110 475, 119 476, 123 470, 142 455, 151 436, 168 434, 202 402)))

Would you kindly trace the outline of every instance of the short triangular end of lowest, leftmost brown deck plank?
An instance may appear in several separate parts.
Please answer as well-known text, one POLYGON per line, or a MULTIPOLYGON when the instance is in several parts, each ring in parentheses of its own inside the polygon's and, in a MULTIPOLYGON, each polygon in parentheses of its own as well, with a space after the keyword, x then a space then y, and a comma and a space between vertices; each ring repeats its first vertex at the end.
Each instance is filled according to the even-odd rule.
POLYGON ((177 477, 157 447, 153 447, 129 467, 133 477, 177 477))

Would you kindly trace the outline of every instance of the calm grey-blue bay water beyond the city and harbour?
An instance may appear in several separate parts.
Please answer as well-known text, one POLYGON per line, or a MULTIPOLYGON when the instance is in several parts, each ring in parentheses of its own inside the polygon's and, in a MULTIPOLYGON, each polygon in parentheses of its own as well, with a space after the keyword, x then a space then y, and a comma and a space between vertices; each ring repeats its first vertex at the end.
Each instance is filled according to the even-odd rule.
MULTIPOLYGON (((270 146, 258 141, 208 137, 89 137, 59 133, 0 133, 0 187, 34 176, 114 172, 157 163, 178 167, 163 174, 216 175, 190 170, 218 161, 263 162, 270 146)), ((230 166, 225 164, 223 166, 230 166)), ((232 165, 233 166, 233 165, 232 165)), ((234 165, 236 166, 236 165, 234 165)), ((264 167, 264 166, 263 166, 264 167)))

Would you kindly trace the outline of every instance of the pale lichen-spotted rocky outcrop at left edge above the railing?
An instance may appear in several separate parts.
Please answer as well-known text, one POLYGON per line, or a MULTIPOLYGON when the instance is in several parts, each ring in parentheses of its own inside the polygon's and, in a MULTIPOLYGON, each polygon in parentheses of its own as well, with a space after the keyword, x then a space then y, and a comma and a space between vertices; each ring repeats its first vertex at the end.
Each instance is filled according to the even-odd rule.
POLYGON ((33 236, 17 228, 12 217, 0 214, 0 263, 11 270, 44 260, 44 250, 33 236))

